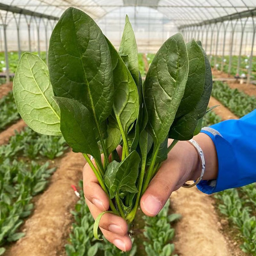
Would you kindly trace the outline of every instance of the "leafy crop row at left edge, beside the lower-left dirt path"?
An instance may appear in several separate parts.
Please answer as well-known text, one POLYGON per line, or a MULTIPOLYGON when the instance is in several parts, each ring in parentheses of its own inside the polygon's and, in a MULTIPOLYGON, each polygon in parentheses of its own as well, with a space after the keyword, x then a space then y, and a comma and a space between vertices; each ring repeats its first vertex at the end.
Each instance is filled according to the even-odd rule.
POLYGON ((62 137, 39 135, 28 127, 0 146, 0 255, 4 244, 24 236, 19 228, 33 210, 31 199, 46 188, 56 169, 47 159, 66 149, 62 137))

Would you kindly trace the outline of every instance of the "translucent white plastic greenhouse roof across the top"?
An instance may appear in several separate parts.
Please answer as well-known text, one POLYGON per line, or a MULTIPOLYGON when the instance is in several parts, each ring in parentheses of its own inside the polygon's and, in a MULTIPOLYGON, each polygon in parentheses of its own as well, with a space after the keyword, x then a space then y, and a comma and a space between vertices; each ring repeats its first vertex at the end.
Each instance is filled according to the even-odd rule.
POLYGON ((5 10, 9 10, 7 13, 3 10, 0 11, 4 17, 2 19, 4 23, 8 23, 8 20, 13 18, 13 11, 6 5, 21 8, 22 10, 16 8, 18 13, 25 13, 27 10, 36 13, 37 16, 42 14, 44 18, 48 19, 58 19, 65 9, 73 6, 98 20, 117 8, 145 6, 157 10, 167 19, 173 20, 177 27, 218 19, 256 8, 255 0, 4 0, 0 3, 0 7, 1 4, 5 5, 5 10))

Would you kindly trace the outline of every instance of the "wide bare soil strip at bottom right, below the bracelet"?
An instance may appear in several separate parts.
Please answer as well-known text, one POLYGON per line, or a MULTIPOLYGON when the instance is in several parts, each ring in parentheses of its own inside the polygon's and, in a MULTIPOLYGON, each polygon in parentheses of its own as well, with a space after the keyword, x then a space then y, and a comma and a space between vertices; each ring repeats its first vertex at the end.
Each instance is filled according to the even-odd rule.
POLYGON ((175 248, 179 256, 231 256, 221 234, 221 223, 213 199, 194 188, 172 193, 172 207, 182 215, 175 228, 175 248))

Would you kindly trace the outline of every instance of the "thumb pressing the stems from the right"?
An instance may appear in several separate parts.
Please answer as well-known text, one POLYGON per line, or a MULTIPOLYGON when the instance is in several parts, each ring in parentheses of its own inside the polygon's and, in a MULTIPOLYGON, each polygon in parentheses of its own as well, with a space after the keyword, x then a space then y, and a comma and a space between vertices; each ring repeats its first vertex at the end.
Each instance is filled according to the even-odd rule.
POLYGON ((179 172, 171 171, 168 164, 162 164, 140 199, 141 210, 148 216, 156 216, 175 190, 179 178, 179 172))

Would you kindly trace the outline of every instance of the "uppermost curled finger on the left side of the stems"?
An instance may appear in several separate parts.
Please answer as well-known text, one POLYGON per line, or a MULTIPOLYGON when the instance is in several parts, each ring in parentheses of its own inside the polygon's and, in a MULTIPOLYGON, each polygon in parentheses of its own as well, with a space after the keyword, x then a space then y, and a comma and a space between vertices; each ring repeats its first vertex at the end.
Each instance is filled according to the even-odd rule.
POLYGON ((89 164, 84 165, 83 184, 84 197, 94 204, 100 211, 107 211, 109 208, 108 196, 101 188, 99 181, 89 164))

